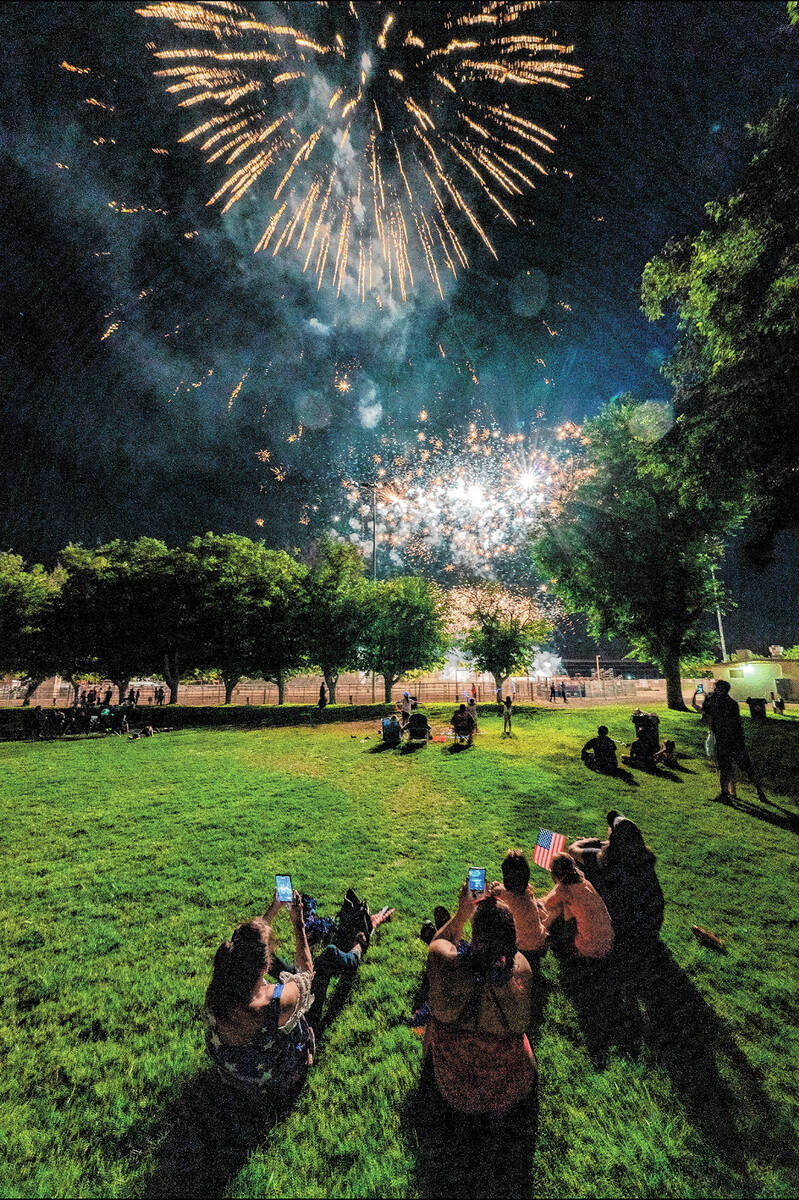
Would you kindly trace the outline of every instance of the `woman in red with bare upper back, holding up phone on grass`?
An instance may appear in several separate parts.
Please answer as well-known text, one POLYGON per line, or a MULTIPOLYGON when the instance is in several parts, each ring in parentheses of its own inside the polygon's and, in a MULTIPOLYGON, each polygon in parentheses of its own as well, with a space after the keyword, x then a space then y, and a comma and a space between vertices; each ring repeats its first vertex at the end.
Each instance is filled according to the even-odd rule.
POLYGON ((533 974, 516 948, 510 910, 495 896, 474 900, 464 883, 455 917, 431 943, 427 973, 425 1058, 432 1063, 434 1103, 461 1114, 510 1114, 536 1081, 524 1032, 533 974), (469 920, 471 947, 459 954, 469 920))

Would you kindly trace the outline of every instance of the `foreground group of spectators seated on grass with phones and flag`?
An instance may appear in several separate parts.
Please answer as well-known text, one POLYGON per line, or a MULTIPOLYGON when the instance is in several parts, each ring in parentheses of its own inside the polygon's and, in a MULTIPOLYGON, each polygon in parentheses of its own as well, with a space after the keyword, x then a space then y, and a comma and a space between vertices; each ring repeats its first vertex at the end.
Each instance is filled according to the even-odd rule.
MULTIPOLYGON (((510 850, 501 883, 474 894, 467 881, 455 913, 439 907, 422 925, 426 1006, 411 1024, 426 1025, 422 1082, 443 1109, 509 1114, 531 1092, 536 1062, 527 1033, 549 948, 597 992, 623 991, 651 954, 663 919, 655 856, 635 822, 617 811, 607 822, 607 838, 582 838, 553 857, 545 895, 530 886, 525 854, 510 850)), ((392 913, 372 916, 348 892, 330 920, 294 892, 290 904, 275 898, 263 917, 240 925, 216 953, 205 997, 208 1052, 222 1080, 276 1108, 292 1103, 313 1063, 331 979, 354 978, 392 913), (284 907, 292 964, 280 959, 275 937, 284 907)))

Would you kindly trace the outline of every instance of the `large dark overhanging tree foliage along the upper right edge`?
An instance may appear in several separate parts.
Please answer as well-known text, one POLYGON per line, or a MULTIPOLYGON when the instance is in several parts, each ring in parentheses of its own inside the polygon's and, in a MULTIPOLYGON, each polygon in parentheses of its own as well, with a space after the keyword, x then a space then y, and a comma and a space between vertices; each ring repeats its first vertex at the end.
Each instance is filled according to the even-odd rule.
POLYGON ((650 320, 668 306, 679 322, 665 370, 686 486, 749 496, 749 558, 763 565, 799 521, 799 106, 781 101, 749 132, 740 187, 647 264, 642 301, 650 320))

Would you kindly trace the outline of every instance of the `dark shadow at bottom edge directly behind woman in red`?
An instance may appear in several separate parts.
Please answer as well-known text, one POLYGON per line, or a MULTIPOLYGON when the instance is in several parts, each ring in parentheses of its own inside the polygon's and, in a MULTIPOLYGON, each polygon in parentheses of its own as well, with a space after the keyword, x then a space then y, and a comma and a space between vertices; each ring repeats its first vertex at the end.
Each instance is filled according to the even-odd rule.
POLYGON ((416 1142, 420 1196, 531 1196, 537 1087, 504 1116, 453 1112, 435 1086, 429 1057, 403 1109, 416 1142))

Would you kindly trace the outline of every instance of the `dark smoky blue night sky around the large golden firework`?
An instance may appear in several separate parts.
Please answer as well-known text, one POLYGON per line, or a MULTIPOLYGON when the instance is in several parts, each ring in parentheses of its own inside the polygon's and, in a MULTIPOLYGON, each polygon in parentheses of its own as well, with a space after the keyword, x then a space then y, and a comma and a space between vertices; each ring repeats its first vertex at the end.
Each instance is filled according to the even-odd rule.
MULTIPOLYGON (((797 94, 797 30, 782 2, 555 4, 541 23, 584 71, 529 89, 554 169, 516 229, 491 224, 497 262, 475 240, 444 301, 420 276, 380 308, 253 254, 266 190, 206 206, 223 176, 179 144, 145 44, 163 30, 134 5, 4 5, 2 548, 49 564, 70 540, 206 529, 301 546, 422 409, 429 430, 511 433, 621 391, 668 401, 674 329, 639 312, 642 269, 732 190, 745 122, 797 94)), ((763 576, 733 548, 731 649, 799 641, 798 545, 783 534, 763 576)))

